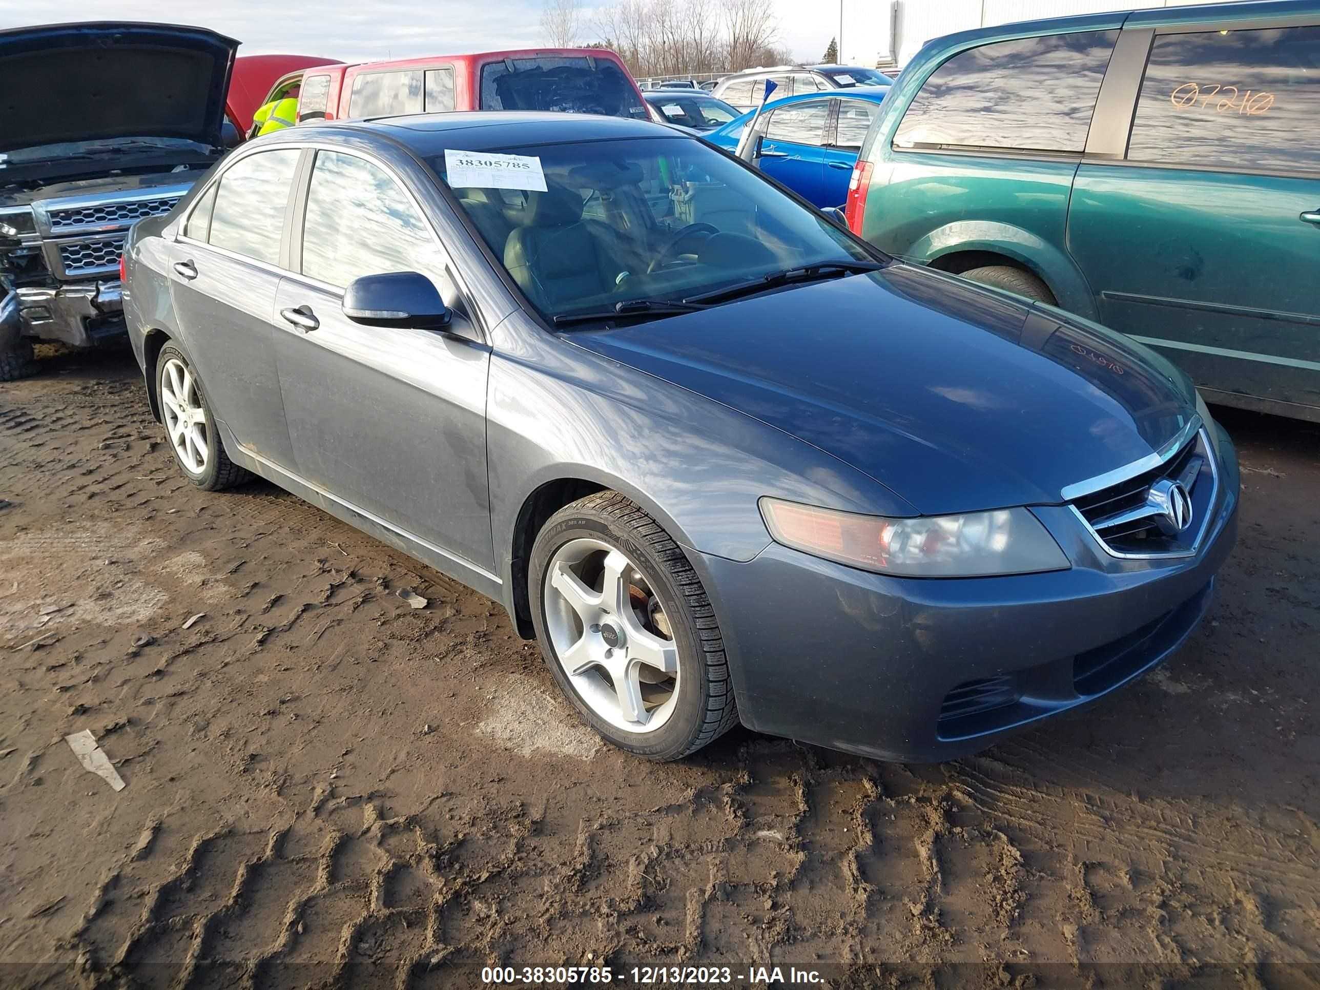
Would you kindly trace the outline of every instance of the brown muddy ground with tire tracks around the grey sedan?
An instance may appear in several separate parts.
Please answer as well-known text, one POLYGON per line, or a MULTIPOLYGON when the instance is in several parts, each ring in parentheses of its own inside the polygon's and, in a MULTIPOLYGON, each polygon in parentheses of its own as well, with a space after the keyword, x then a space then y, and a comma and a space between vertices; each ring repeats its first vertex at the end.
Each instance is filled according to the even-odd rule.
POLYGON ((265 483, 193 490, 127 354, 48 362, 0 388, 0 983, 1315 986, 1320 428, 1222 416, 1238 546, 1139 685, 945 766, 746 730, 652 766, 494 602, 265 483))

